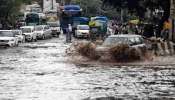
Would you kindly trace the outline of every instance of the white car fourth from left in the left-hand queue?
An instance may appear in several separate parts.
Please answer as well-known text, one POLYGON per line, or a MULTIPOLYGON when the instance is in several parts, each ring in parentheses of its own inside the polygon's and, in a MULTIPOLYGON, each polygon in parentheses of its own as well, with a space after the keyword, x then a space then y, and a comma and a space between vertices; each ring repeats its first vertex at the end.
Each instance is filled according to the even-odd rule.
POLYGON ((52 31, 48 25, 39 25, 35 27, 35 33, 38 39, 46 39, 52 37, 52 31))

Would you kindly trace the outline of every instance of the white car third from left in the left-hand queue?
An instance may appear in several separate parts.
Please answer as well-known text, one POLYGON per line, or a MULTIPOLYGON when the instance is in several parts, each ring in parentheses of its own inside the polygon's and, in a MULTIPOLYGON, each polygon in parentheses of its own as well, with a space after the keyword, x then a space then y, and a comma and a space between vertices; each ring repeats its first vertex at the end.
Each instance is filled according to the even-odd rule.
POLYGON ((23 26, 21 27, 22 33, 25 35, 26 41, 37 41, 37 34, 35 33, 34 26, 23 26))

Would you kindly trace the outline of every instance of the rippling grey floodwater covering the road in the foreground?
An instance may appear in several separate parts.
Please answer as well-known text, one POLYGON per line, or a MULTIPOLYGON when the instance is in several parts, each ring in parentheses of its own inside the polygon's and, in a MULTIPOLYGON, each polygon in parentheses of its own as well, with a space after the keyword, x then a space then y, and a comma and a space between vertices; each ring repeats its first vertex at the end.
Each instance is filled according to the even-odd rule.
POLYGON ((67 62, 64 38, 0 49, 0 100, 175 99, 174 66, 67 62))

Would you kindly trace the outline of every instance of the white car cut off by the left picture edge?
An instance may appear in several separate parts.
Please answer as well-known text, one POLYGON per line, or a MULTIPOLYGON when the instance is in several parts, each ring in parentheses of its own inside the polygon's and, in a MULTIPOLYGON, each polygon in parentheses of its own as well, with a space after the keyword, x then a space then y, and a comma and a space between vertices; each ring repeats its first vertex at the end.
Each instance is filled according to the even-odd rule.
POLYGON ((0 30, 0 46, 18 46, 18 37, 12 30, 0 30))

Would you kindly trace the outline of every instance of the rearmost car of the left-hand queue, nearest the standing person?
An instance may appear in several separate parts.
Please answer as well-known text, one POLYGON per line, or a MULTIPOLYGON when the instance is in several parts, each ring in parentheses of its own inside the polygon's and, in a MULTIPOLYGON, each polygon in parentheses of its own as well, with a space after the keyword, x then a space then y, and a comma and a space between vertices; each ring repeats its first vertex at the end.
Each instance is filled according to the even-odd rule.
POLYGON ((56 22, 47 22, 47 25, 50 26, 51 30, 52 30, 52 36, 59 36, 61 33, 61 27, 60 27, 60 23, 58 21, 56 22))

